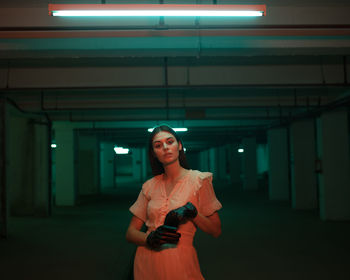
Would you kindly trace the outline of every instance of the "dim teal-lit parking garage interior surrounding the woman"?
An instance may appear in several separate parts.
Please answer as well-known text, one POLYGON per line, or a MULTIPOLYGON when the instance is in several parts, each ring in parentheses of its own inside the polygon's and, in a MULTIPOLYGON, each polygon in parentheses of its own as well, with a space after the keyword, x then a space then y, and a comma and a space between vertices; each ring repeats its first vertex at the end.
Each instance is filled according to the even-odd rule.
MULTIPOLYGON (((126 2, 0 3, 0 278, 132 279, 129 207, 152 177, 148 129, 166 123, 187 128, 190 168, 213 173, 223 205, 222 235, 194 241, 205 279, 349 279, 349 1, 48 14, 126 2)), ((132 1, 184 2, 242 4, 132 1)))

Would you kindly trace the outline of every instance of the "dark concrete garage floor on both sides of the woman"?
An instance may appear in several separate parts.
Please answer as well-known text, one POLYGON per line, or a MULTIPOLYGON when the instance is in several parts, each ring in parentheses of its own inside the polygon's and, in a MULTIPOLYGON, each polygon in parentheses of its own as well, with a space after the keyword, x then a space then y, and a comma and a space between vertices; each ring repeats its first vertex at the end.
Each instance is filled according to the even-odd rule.
MULTIPOLYGON (((127 279, 135 246, 125 230, 137 192, 81 198, 76 207, 55 207, 51 218, 11 217, 0 279, 127 279)), ((195 240, 207 280, 350 279, 350 222, 322 222, 261 191, 216 192, 223 234, 199 232, 195 240)))

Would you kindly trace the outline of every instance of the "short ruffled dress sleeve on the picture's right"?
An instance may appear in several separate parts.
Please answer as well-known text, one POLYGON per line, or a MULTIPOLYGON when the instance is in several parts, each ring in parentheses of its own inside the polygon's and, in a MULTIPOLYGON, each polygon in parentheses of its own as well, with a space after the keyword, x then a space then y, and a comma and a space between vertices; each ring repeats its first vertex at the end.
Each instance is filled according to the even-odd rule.
POLYGON ((220 201, 216 198, 212 180, 213 176, 211 173, 206 173, 206 175, 200 177, 201 186, 198 193, 198 211, 207 217, 222 208, 220 201))

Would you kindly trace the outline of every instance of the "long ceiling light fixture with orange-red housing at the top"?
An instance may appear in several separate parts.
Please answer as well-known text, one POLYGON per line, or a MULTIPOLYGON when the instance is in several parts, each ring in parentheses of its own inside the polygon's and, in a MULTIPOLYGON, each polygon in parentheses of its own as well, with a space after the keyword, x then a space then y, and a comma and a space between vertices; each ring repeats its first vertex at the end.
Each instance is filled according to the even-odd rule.
POLYGON ((67 17, 257 17, 266 5, 49 4, 49 15, 67 17))

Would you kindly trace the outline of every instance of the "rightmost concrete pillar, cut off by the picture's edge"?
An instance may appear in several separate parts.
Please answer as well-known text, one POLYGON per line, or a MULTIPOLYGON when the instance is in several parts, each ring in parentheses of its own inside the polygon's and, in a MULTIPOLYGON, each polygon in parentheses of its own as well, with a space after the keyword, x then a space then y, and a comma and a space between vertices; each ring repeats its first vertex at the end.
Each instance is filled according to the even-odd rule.
POLYGON ((346 109, 325 113, 318 126, 320 216, 350 220, 349 116, 346 109))

